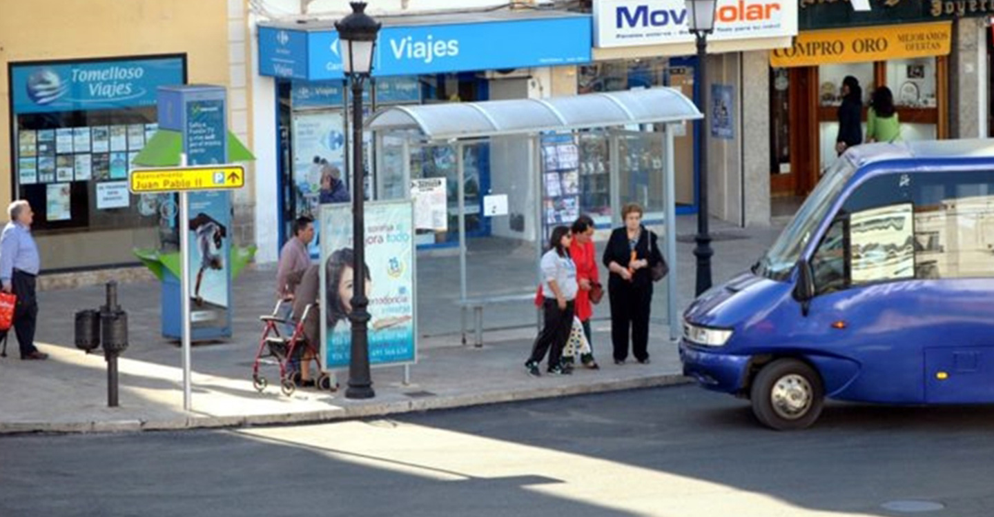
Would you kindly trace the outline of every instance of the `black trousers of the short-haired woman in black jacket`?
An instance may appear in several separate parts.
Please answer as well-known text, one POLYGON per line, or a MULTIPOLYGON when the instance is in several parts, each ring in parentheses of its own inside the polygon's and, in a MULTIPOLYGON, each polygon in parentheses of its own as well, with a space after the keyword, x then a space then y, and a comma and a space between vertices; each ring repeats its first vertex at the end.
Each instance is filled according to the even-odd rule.
POLYGON ((636 359, 649 358, 649 310, 652 305, 652 284, 637 285, 611 279, 607 286, 611 302, 611 344, 614 360, 628 358, 628 330, 631 329, 631 352, 636 359))

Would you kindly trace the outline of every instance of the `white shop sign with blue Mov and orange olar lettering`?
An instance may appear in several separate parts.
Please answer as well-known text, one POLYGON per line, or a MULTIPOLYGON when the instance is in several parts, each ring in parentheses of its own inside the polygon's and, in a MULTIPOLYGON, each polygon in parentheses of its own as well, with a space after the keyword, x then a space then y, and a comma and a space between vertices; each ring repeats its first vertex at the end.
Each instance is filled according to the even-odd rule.
MULTIPOLYGON (((684 0, 593 0, 593 45, 634 47, 692 42, 684 0)), ((797 35, 797 0, 719 0, 709 40, 797 35)))

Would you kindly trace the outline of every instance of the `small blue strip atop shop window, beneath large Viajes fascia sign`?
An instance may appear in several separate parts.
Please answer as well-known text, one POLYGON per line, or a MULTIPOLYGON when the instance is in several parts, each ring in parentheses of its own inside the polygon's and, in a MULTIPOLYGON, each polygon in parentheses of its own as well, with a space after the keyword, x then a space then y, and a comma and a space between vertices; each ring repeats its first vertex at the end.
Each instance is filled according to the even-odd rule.
MULTIPOLYGON (((343 90, 341 80, 293 81, 290 99, 294 108, 340 107, 343 90)), ((376 79, 377 104, 419 102, 421 87, 417 77, 378 77, 376 79)), ((363 89, 363 102, 370 102, 369 88, 363 89)))

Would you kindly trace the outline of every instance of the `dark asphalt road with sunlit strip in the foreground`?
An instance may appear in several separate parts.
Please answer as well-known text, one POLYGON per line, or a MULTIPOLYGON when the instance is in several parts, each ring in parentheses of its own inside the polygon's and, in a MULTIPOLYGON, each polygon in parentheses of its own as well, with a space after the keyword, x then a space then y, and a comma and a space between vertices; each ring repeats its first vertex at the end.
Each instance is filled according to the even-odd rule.
POLYGON ((685 386, 315 426, 3 437, 0 516, 991 516, 992 429, 994 407, 830 404, 814 428, 775 433, 744 401, 685 386))

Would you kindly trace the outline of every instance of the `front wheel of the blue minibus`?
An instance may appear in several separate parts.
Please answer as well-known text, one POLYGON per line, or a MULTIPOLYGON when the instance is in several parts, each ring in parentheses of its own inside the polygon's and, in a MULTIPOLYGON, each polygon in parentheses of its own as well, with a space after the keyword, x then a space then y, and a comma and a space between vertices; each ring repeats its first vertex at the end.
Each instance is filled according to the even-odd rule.
POLYGON ((763 366, 749 395, 755 418, 777 431, 811 426, 825 399, 818 372, 797 359, 777 359, 763 366))

